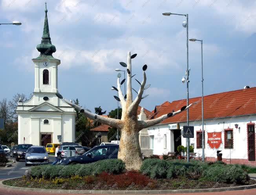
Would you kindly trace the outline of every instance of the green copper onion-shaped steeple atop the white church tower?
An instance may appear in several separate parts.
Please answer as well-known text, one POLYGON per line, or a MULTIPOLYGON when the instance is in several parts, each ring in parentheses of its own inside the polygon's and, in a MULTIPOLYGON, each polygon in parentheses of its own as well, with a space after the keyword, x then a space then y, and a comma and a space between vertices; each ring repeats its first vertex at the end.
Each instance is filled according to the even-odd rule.
POLYGON ((40 52, 39 57, 42 57, 43 55, 52 56, 52 54, 56 52, 55 46, 51 44, 47 12, 48 10, 45 3, 44 31, 43 31, 41 44, 37 45, 37 50, 38 52, 40 52))

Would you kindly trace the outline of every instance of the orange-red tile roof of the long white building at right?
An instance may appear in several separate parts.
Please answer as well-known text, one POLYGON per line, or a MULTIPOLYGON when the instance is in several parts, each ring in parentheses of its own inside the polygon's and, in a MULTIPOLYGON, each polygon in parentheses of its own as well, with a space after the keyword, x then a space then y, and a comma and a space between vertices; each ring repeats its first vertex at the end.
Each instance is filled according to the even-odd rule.
MULTIPOLYGON (((187 100, 176 100, 173 102, 166 102, 162 106, 156 106, 155 116, 157 118, 163 114, 167 114, 179 110, 185 106, 187 100)), ((201 97, 190 98, 189 103, 198 102, 189 109, 189 120, 200 120, 202 118, 201 112, 201 97)), ((204 118, 219 118, 227 116, 238 116, 245 114, 256 114, 256 87, 249 89, 239 89, 235 91, 227 91, 223 93, 216 93, 204 96, 204 118)), ((186 122, 187 111, 177 114, 173 117, 167 118, 161 123, 176 123, 186 122)))

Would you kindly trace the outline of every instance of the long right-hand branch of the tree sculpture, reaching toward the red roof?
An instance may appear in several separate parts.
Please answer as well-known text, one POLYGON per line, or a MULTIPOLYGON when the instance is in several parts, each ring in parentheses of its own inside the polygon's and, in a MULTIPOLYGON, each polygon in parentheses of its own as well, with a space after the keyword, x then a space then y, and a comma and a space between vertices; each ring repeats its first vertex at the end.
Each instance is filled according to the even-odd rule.
POLYGON ((139 123, 139 131, 141 131, 142 129, 145 129, 145 128, 147 128, 147 127, 151 127, 151 126, 154 126, 154 125, 156 125, 156 124, 158 124, 158 123, 161 123, 161 122, 162 122, 163 120, 165 120, 166 118, 169 118, 169 117, 171 117, 171 116, 174 116, 174 115, 176 115, 176 114, 181 113, 182 111, 187 110, 187 109, 188 109, 190 106, 192 106, 193 104, 197 104, 197 102, 196 102, 196 103, 192 103, 192 104, 190 104, 190 105, 188 105, 188 106, 183 106, 180 110, 178 110, 178 111, 176 111, 176 112, 174 112, 174 113, 164 114, 164 115, 162 115, 162 116, 160 116, 160 117, 158 117, 158 118, 152 119, 152 120, 138 121, 138 123, 139 123))

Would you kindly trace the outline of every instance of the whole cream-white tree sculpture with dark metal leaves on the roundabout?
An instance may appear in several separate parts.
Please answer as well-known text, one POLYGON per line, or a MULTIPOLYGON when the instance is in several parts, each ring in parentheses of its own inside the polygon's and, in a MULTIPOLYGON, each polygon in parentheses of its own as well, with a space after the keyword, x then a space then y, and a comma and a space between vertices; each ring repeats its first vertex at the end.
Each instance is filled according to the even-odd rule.
MULTIPOLYGON (((131 52, 128 52, 127 55, 127 65, 126 63, 120 63, 122 66, 127 66, 127 94, 123 95, 121 91, 121 84, 123 84, 124 81, 119 82, 119 78, 117 78, 117 88, 113 87, 115 90, 118 91, 119 97, 115 97, 118 101, 121 102, 122 107, 122 118, 121 120, 115 119, 115 118, 105 118, 101 115, 90 113, 89 111, 86 111, 82 109, 80 106, 77 106, 76 104, 73 104, 72 102, 66 100, 62 97, 59 93, 57 93, 57 97, 63 98, 63 100, 69 104, 70 106, 75 107, 76 109, 80 110, 81 113, 83 113, 86 117, 96 120, 97 122, 109 125, 111 127, 116 127, 117 129, 121 130, 121 139, 119 144, 119 152, 118 152, 118 158, 123 160, 126 164, 126 169, 128 170, 139 170, 142 164, 142 154, 141 154, 141 148, 139 145, 139 131, 141 131, 144 128, 156 125, 163 120, 165 120, 168 117, 174 116, 178 113, 181 113, 182 111, 188 109, 192 104, 189 106, 183 106, 180 110, 168 113, 160 116, 159 118, 155 118, 152 120, 144 120, 139 121, 137 119, 137 109, 138 106, 143 98, 146 96, 143 95, 143 91, 145 89, 146 84, 146 69, 147 65, 145 64, 143 66, 143 81, 140 83, 140 89, 139 91, 135 91, 132 88, 132 65, 131 65, 131 59, 136 57, 137 54, 133 54, 131 56, 131 52), (135 100, 132 100, 132 89, 138 94, 135 100), (126 98, 127 96, 127 98, 126 98)), ((148 88, 148 86, 146 86, 148 88)))

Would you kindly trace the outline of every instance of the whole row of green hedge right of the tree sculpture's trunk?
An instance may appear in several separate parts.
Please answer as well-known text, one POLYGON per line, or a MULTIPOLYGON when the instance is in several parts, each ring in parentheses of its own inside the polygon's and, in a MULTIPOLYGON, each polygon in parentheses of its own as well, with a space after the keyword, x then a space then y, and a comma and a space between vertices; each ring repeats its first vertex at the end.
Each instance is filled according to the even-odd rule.
POLYGON ((223 162, 204 163, 201 161, 182 160, 166 161, 161 159, 146 159, 140 169, 141 173, 150 178, 175 178, 188 177, 234 184, 245 184, 249 176, 245 170, 223 162))

